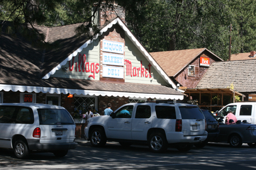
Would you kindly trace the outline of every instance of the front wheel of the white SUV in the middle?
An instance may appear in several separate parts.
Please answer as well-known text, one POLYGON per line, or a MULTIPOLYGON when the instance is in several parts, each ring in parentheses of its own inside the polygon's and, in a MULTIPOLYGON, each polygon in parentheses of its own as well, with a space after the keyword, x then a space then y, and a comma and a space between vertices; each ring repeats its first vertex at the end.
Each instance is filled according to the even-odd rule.
POLYGON ((94 147, 103 147, 106 144, 105 132, 100 128, 93 129, 90 135, 90 141, 94 147))

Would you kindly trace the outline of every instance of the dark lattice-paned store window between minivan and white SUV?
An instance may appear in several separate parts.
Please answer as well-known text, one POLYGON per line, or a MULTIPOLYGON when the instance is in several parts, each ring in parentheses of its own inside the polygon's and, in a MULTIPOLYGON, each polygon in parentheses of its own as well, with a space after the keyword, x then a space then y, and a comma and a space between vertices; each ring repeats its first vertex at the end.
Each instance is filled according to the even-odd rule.
POLYGON ((97 96, 92 95, 74 95, 74 105, 75 108, 81 109, 88 109, 88 107, 92 107, 97 112, 98 110, 98 98, 97 96))

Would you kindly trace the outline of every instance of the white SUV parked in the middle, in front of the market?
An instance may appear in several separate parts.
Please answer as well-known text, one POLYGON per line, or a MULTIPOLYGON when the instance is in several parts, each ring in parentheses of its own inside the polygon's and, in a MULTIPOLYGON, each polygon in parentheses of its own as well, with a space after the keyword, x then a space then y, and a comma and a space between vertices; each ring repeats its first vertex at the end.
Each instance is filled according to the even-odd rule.
POLYGON ((198 106, 156 101, 125 104, 110 116, 90 118, 84 133, 94 147, 103 147, 107 140, 123 146, 147 143, 152 152, 160 153, 169 145, 190 150, 207 138, 205 126, 198 106))

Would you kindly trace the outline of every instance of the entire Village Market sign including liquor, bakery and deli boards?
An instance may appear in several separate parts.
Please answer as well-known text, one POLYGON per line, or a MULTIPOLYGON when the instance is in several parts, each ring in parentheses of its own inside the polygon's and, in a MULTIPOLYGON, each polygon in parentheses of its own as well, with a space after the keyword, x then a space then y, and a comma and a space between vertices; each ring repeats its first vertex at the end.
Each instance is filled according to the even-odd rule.
MULTIPOLYGON (((120 55, 124 53, 124 43, 103 40, 103 52, 109 52, 103 53, 103 77, 123 79, 124 65, 126 65, 126 76, 151 78, 151 64, 148 64, 149 68, 143 68, 142 61, 140 61, 140 67, 132 67, 132 62, 129 60, 124 60, 124 55, 120 55)), ((78 63, 75 62, 74 69, 75 57, 73 57, 73 60, 69 61, 69 70, 78 72, 91 72, 92 75, 90 75, 89 78, 92 77, 95 79, 95 73, 99 73, 99 63, 86 62, 86 58, 87 57, 85 54, 79 54, 78 63)))

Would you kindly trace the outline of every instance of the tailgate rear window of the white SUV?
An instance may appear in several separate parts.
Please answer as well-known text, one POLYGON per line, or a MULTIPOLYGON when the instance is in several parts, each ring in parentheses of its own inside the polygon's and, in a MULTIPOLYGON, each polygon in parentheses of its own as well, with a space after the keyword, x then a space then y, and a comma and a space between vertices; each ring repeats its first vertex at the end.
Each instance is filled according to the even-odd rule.
POLYGON ((180 106, 179 109, 182 119, 205 119, 197 106, 180 106))

